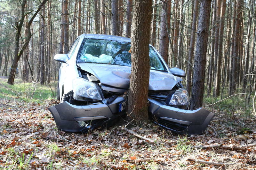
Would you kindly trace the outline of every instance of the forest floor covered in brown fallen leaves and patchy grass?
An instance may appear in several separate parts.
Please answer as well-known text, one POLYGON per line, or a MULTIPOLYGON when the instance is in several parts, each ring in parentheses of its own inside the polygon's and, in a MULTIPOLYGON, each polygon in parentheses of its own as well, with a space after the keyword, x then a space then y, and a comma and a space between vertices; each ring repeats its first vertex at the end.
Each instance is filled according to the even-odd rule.
POLYGON ((59 103, 51 99, 52 87, 38 85, 33 101, 28 101, 33 90, 26 89, 32 85, 17 81, 14 88, 6 81, 0 78, 0 169, 256 168, 252 115, 244 118, 244 113, 236 111, 230 116, 209 108, 216 116, 201 136, 177 135, 146 122, 130 128, 154 142, 131 135, 120 124, 87 134, 70 134, 57 130, 47 109, 59 103), (197 148, 199 145, 215 147, 197 148))

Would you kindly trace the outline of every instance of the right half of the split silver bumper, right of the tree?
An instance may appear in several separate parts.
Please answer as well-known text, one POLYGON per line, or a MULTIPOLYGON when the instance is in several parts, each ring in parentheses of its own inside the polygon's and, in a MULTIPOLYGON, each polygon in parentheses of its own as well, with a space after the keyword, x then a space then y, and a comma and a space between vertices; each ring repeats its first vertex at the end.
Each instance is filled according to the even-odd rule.
POLYGON ((179 134, 202 134, 215 116, 204 108, 184 110, 166 106, 162 103, 148 99, 149 109, 156 124, 179 134))

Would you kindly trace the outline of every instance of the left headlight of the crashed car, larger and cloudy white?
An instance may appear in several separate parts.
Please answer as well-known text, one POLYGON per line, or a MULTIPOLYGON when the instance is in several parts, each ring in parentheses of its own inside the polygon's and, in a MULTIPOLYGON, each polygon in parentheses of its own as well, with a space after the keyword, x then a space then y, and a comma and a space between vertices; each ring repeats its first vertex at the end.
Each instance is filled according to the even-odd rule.
POLYGON ((75 78, 72 87, 76 100, 83 100, 83 97, 102 100, 96 85, 84 78, 75 78))

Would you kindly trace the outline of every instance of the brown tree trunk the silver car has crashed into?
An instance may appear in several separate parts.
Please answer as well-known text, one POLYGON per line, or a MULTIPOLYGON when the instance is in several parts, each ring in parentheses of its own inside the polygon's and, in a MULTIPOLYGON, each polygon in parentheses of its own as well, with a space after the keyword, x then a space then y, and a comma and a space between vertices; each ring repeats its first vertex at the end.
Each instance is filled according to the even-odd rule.
POLYGON ((132 72, 128 113, 137 121, 148 120, 149 37, 152 0, 135 0, 132 19, 132 72))

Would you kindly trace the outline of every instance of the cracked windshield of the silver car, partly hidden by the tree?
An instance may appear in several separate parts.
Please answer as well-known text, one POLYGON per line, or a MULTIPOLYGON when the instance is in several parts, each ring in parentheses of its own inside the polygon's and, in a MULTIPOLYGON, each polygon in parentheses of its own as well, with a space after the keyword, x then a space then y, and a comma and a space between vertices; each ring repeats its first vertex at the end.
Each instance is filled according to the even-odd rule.
MULTIPOLYGON (((84 39, 77 55, 77 63, 101 63, 132 66, 131 43, 112 40, 84 39)), ((150 69, 166 71, 156 51, 149 46, 150 69)))

